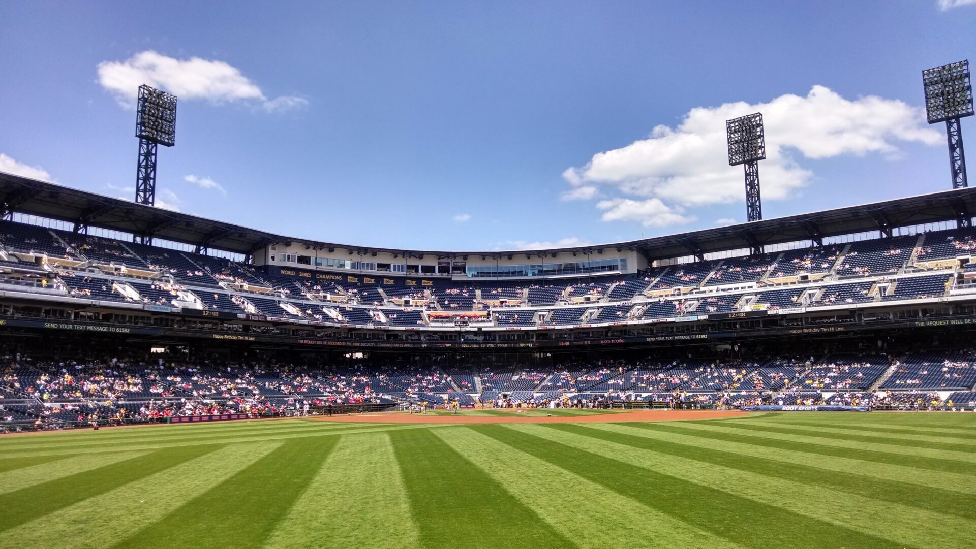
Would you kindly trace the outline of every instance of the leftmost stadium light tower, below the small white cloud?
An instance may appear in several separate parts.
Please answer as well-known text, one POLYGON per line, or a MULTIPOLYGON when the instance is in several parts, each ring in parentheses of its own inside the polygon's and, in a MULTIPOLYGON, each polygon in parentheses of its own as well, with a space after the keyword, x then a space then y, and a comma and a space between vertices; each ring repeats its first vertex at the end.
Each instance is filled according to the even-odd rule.
POLYGON ((136 171, 136 202, 156 203, 156 146, 176 144, 177 98, 166 92, 139 87, 136 137, 139 137, 139 168, 136 171))

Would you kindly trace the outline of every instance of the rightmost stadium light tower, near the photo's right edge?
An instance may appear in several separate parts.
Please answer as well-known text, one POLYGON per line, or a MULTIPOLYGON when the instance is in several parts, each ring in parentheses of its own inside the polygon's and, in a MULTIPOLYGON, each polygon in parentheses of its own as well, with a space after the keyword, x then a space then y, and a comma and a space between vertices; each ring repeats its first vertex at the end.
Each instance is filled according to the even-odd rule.
POLYGON ((973 90, 969 82, 969 61, 961 60, 921 71, 925 88, 925 113, 929 124, 946 123, 949 139, 949 168, 953 188, 969 186, 966 156, 962 151, 959 119, 973 115, 973 90))

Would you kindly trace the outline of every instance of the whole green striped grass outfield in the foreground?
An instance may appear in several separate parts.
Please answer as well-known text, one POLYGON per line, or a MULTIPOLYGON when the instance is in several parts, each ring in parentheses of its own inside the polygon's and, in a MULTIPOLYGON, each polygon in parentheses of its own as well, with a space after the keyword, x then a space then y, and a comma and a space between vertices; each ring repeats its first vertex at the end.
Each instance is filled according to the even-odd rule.
POLYGON ((976 547, 976 413, 0 437, 32 547, 976 547))

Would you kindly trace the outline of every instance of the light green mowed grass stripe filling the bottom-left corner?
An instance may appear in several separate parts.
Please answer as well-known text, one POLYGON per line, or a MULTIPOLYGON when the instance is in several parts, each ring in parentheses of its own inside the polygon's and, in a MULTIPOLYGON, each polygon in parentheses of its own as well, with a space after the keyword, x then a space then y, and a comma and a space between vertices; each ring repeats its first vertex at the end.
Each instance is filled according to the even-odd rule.
POLYGON ((160 520, 184 501, 211 490, 279 445, 227 445, 9 529, 0 536, 0 549, 59 547, 67 540, 72 549, 110 547, 160 520))

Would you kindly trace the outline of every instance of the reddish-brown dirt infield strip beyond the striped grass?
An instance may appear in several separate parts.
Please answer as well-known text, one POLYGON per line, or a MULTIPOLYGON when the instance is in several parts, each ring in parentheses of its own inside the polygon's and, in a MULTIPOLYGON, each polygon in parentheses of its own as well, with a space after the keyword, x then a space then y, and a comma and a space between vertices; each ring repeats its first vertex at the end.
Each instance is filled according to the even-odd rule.
MULTIPOLYGON (((530 409, 532 412, 544 410, 530 409)), ((508 411, 507 411, 508 412, 508 411)), ((526 411, 528 412, 528 411, 526 411)), ((521 415, 517 411, 497 415, 433 415, 425 413, 378 412, 359 415, 316 417, 316 421, 349 421, 353 423, 584 423, 590 421, 680 421, 684 419, 721 419, 741 417, 750 412, 713 412, 698 410, 640 410, 636 412, 593 413, 590 415, 521 415)))

